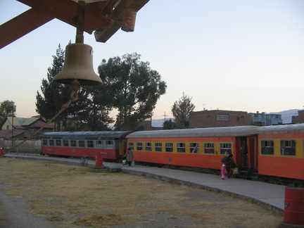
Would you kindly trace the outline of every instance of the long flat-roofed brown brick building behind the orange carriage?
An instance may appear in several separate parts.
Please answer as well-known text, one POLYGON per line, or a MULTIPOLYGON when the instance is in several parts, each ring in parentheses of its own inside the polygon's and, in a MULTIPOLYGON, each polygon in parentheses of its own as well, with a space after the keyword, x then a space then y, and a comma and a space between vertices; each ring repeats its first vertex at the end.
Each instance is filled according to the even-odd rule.
POLYGON ((251 113, 229 110, 203 110, 190 113, 189 128, 251 125, 251 113))

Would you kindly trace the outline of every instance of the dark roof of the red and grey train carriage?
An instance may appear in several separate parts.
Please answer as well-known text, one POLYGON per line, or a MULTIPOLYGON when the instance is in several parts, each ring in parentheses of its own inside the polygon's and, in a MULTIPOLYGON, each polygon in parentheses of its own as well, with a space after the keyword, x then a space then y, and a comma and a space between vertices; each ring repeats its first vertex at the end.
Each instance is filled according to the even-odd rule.
POLYGON ((119 139, 131 132, 45 132, 42 139, 119 139))

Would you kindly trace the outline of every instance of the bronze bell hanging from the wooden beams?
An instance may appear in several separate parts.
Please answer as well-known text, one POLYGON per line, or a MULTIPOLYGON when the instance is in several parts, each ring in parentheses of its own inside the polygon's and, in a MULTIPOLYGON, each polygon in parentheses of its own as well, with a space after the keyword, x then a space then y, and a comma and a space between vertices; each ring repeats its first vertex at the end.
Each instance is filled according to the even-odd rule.
POLYGON ((53 77, 53 82, 62 84, 72 84, 74 80, 82 86, 102 84, 93 69, 93 49, 87 44, 68 44, 63 69, 53 77))

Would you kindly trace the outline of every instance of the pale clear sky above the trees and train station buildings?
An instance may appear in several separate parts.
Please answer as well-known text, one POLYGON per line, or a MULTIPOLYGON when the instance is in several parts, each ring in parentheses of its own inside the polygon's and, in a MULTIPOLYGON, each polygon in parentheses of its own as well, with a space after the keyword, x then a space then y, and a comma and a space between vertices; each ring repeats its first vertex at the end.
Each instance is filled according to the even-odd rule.
MULTIPOLYGON (((0 24, 29 7, 0 1, 0 24)), ((36 115, 35 102, 58 44, 75 43, 76 28, 52 20, 0 50, 0 102, 14 101, 17 116, 36 115)), ((2 35, 2 34, 1 34, 2 35)), ((137 52, 167 83, 153 119, 172 118, 184 92, 195 110, 248 113, 303 109, 303 0, 150 0, 134 32, 119 30, 106 43, 84 34, 102 59, 137 52)), ((115 113, 113 113, 113 117, 115 113)))

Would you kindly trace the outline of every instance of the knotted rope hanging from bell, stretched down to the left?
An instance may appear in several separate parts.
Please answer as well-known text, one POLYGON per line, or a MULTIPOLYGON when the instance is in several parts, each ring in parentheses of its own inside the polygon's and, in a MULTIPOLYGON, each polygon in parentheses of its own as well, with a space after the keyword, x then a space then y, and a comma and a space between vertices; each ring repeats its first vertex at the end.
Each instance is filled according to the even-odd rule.
MULTIPOLYGON (((49 125, 53 120, 55 120, 58 115, 60 115, 63 110, 67 109, 68 106, 70 106, 70 103, 72 103, 73 101, 77 101, 78 99, 78 94, 77 91, 80 89, 80 84, 77 80, 74 80, 72 82, 72 84, 70 85, 70 89, 72 89, 72 93, 70 94, 70 100, 63 104, 63 106, 61 106, 61 110, 58 110, 58 113, 56 113, 56 115, 53 116, 53 118, 51 118, 51 120, 49 120, 48 122, 46 122, 46 124, 44 124, 42 127, 40 127, 40 129, 38 129, 36 132, 34 132, 34 134, 30 135, 30 137, 27 137, 27 139, 24 139, 23 141, 20 142, 20 144, 13 146, 10 150, 8 150, 6 153, 10 153, 11 151, 13 151, 13 149, 17 148, 18 146, 21 146, 22 144, 25 143, 25 141, 32 139, 32 137, 34 137, 36 134, 38 134, 39 132, 42 131, 42 129, 44 129, 44 127, 46 127, 47 125, 49 125)), ((4 153, 4 154, 6 154, 4 153)))

